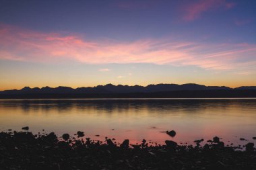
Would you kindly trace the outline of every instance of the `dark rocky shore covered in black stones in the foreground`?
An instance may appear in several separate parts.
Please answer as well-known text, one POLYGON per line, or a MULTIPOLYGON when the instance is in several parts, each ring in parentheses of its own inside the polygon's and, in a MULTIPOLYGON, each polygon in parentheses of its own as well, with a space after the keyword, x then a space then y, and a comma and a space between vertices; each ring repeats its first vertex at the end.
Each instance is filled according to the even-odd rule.
MULTIPOLYGON (((0 169, 256 169, 253 143, 245 151, 225 146, 214 137, 201 146, 178 145, 166 140, 164 145, 151 146, 146 140, 129 144, 77 138, 69 134, 25 132, 0 133, 0 169)), ((78 138, 79 137, 79 138, 78 138)))

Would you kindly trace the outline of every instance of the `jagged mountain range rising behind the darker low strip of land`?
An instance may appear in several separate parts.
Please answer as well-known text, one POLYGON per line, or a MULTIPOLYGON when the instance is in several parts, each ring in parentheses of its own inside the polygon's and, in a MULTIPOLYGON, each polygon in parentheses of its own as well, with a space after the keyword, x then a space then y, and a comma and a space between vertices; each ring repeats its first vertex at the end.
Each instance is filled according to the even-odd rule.
POLYGON ((150 84, 146 86, 141 85, 113 85, 113 84, 106 84, 106 85, 97 85, 94 87, 34 87, 30 88, 28 86, 18 90, 18 89, 11 89, 11 90, 4 90, 0 91, 0 94, 4 95, 25 95, 25 94, 42 94, 42 93, 52 93, 52 94, 65 94, 65 93, 158 93, 164 91, 208 91, 208 90, 256 90, 256 86, 241 86, 236 88, 226 87, 226 86, 205 86, 199 85, 195 83, 186 83, 182 85, 178 84, 150 84))

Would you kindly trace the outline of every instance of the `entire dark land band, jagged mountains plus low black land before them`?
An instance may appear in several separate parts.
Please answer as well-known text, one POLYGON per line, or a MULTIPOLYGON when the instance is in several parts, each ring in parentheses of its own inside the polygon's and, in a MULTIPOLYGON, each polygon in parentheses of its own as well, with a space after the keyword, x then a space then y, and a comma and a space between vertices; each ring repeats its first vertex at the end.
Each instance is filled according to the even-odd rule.
POLYGON ((24 87, 0 91, 1 98, 14 97, 256 97, 256 86, 236 87, 205 86, 193 83, 158 84, 146 87, 134 85, 98 85, 96 87, 24 87), (208 96, 207 96, 208 95, 208 96))

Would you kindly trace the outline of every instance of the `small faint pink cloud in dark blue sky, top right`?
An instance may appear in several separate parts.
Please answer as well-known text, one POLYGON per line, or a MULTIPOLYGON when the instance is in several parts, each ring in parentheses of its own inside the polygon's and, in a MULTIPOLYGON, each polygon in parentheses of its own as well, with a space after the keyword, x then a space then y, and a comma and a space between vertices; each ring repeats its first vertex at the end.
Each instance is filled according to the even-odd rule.
POLYGON ((234 3, 228 3, 226 0, 200 0, 197 3, 190 3, 185 7, 185 15, 183 19, 193 21, 200 17, 205 11, 218 8, 230 9, 234 7, 234 3))

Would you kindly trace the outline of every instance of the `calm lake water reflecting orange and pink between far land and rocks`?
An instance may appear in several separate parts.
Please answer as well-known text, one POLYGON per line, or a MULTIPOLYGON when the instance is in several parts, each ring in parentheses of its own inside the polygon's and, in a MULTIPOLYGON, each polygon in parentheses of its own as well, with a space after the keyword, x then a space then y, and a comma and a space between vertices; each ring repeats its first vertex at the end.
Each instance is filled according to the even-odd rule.
POLYGON ((1 99, 0 130, 23 126, 71 136, 82 130, 96 140, 108 136, 133 143, 145 138, 192 144, 217 135, 237 145, 245 143, 239 138, 255 142, 256 99, 1 99), (177 136, 160 132, 166 130, 177 136))

